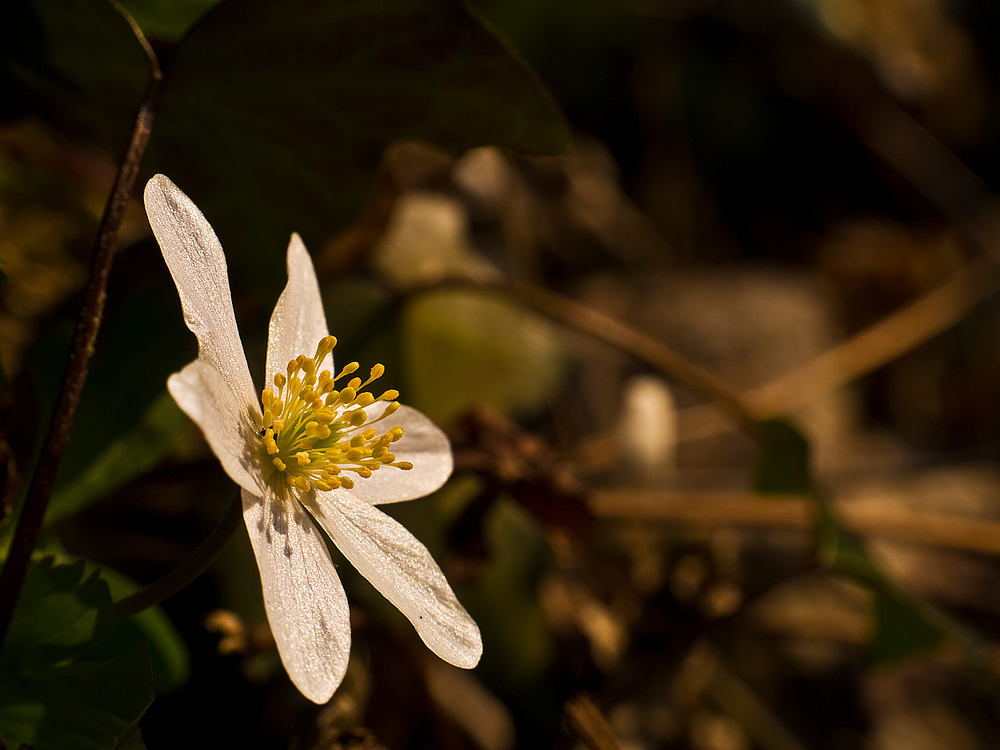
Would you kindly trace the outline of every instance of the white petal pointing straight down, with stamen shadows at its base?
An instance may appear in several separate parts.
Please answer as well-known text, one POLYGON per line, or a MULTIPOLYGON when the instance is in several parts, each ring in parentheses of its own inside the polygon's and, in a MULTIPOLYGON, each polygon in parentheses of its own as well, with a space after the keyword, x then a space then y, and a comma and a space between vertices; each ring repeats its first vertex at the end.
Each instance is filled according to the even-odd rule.
POLYGON ((326 703, 351 655, 347 596, 326 542, 294 498, 243 491, 243 520, 281 662, 302 694, 326 703))

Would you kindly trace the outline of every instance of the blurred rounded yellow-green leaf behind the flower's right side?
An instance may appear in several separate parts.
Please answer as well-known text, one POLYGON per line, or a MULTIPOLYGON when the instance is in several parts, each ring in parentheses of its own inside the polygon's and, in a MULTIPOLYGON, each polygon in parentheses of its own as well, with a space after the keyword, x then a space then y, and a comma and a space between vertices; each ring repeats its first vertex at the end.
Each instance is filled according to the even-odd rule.
POLYGON ((524 414, 559 384, 561 350, 538 316, 474 290, 425 294, 403 316, 406 400, 447 421, 475 406, 524 414))

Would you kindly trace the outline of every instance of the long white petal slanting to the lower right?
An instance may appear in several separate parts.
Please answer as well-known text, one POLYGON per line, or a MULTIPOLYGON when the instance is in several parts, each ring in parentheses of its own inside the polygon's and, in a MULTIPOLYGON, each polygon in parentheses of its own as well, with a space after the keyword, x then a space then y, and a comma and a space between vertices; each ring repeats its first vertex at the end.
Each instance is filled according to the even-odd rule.
POLYGON ((479 663, 483 641, 427 548, 382 511, 350 496, 316 492, 303 504, 344 556, 406 615, 424 643, 456 667, 479 663))

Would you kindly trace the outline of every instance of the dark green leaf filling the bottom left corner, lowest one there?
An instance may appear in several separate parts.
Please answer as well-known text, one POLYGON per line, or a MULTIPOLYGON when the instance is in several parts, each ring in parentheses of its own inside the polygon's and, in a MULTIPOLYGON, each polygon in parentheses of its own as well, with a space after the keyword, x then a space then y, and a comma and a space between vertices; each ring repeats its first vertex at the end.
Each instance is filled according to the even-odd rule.
POLYGON ((114 750, 153 700, 145 644, 107 661, 0 674, 0 737, 34 750, 114 750))

